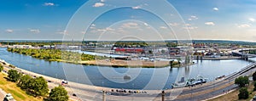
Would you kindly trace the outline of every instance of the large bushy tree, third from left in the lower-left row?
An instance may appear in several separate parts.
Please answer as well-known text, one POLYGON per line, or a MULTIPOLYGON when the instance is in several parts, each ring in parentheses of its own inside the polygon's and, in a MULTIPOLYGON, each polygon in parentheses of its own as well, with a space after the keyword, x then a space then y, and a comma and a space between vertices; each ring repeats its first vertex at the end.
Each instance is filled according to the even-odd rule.
POLYGON ((30 81, 30 91, 36 96, 44 96, 48 93, 48 85, 47 81, 45 81, 44 77, 39 76, 30 81))

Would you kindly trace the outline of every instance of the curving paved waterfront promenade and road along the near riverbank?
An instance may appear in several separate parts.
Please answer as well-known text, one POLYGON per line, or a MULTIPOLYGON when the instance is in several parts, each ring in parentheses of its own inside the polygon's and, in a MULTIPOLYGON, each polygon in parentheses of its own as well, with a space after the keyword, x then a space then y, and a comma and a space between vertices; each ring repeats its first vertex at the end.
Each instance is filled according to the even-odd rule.
MULTIPOLYGON (((5 70, 10 69, 8 63, 4 65, 4 67, 5 70)), ((234 84, 235 78, 237 76, 245 76, 251 74, 251 70, 255 70, 254 67, 255 63, 248 65, 247 67, 231 74, 230 76, 226 76, 226 78, 219 79, 217 81, 210 81, 206 84, 197 85, 195 87, 167 89, 165 90, 165 99, 179 101, 193 98, 195 100, 204 100, 218 96, 219 94, 223 94, 223 91, 231 91, 232 89, 236 89, 236 85, 234 84)), ((16 68, 16 70, 19 70, 20 72, 30 76, 43 76, 28 70, 22 70, 19 68, 16 68)), ((49 88, 53 88, 61 84, 60 79, 49 76, 43 77, 47 81, 51 81, 49 82, 49 88)), ((69 93, 69 96, 74 100, 102 100, 102 98, 106 98, 107 100, 161 100, 161 90, 143 90, 143 92, 146 93, 139 93, 142 92, 142 90, 125 89, 126 93, 120 93, 116 92, 116 90, 120 90, 117 88, 96 87, 71 81, 69 81, 68 85, 65 87, 69 93), (105 93, 102 93, 102 91, 105 91, 105 93), (128 91, 136 91, 137 93, 127 93, 128 91), (73 97, 73 93, 75 93, 77 97, 73 97)))

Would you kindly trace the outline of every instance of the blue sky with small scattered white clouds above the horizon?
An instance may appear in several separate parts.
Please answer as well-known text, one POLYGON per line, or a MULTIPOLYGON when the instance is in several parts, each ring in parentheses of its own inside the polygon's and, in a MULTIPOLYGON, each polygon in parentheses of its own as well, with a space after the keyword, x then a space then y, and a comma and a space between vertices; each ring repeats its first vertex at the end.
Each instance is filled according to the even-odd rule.
POLYGON ((0 40, 256 42, 255 0, 162 1, 1 0, 0 40))

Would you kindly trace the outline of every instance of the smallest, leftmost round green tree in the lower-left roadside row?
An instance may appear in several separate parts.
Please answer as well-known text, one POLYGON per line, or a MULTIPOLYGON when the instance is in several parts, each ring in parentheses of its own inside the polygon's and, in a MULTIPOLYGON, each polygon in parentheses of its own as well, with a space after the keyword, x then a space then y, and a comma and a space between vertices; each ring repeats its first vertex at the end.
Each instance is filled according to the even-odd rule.
POLYGON ((9 81, 19 81, 21 74, 17 70, 9 70, 8 71, 8 77, 9 81))

